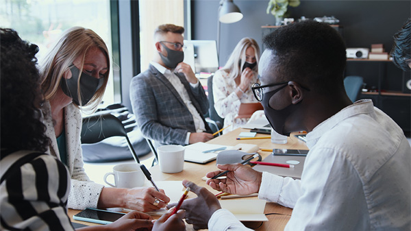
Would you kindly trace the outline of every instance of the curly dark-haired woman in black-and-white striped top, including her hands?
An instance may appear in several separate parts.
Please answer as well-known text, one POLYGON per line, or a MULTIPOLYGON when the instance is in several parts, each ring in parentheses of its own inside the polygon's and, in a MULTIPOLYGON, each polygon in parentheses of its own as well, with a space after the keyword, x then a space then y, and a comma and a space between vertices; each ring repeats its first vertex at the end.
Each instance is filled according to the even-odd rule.
MULTIPOLYGON (((3 28, 0 47, 0 230, 73 230, 66 214, 69 172, 62 162, 44 153, 50 141, 39 109, 42 95, 35 58, 38 47, 21 40, 14 30, 3 28)), ((185 230, 185 212, 170 215, 158 219, 153 230, 185 230)), ((103 228, 81 230, 152 226, 152 217, 133 211, 103 228)))

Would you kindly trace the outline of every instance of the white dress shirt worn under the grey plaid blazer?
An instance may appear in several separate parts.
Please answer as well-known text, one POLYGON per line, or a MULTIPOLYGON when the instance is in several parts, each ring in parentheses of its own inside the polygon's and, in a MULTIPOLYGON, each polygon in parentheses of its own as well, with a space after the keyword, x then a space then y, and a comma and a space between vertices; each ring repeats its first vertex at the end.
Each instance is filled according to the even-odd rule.
MULTIPOLYGON (((201 119, 201 115, 195 109, 195 106, 192 105, 192 102, 190 100, 190 97, 188 96, 186 88, 184 88, 184 85, 182 82, 179 80, 179 78, 171 72, 169 69, 166 69, 164 66, 160 65, 158 62, 150 62, 151 65, 155 67, 164 77, 166 77, 167 80, 173 85, 175 90, 177 90, 177 93, 179 94, 180 97, 182 97, 182 100, 184 101, 184 104, 186 104, 188 110, 192 114, 192 119, 194 120, 194 125, 195 125, 195 130, 197 132, 204 132, 206 131, 206 125, 204 124, 203 119, 201 119)), ((190 85, 193 88, 199 87, 199 81, 197 81, 196 84, 190 83, 190 85)), ((190 134, 191 132, 187 132, 187 138, 186 138, 186 144, 189 144, 189 139, 190 139, 190 134)))

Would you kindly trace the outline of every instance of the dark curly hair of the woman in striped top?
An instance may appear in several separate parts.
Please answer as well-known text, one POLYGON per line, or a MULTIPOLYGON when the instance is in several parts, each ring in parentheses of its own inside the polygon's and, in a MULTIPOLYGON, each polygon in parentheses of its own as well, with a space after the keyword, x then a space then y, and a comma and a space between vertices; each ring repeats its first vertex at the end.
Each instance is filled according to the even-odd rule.
POLYGON ((42 123, 37 45, 21 40, 14 29, 0 28, 1 149, 46 151, 42 123))

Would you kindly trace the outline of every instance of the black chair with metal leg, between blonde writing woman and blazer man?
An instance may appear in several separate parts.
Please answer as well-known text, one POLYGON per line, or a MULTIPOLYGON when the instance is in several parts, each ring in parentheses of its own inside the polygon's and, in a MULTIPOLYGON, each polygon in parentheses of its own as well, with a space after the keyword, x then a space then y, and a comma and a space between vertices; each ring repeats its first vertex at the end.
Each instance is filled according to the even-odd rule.
POLYGON ((140 163, 136 151, 134 151, 134 147, 127 136, 123 123, 121 123, 117 117, 114 117, 114 115, 108 113, 96 114, 83 119, 81 135, 82 143, 97 143, 112 136, 125 137, 127 146, 132 152, 134 160, 140 163))

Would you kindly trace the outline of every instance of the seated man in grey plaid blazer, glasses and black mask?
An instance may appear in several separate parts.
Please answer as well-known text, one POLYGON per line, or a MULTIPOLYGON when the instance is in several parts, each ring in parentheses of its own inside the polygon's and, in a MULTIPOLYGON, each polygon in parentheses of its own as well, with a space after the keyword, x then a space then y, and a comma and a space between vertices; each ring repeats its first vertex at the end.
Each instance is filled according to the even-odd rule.
POLYGON ((149 69, 132 79, 130 98, 142 134, 155 145, 188 145, 213 138, 203 117, 208 99, 184 60, 184 27, 165 24, 154 32, 149 69))

